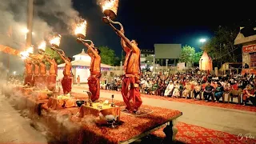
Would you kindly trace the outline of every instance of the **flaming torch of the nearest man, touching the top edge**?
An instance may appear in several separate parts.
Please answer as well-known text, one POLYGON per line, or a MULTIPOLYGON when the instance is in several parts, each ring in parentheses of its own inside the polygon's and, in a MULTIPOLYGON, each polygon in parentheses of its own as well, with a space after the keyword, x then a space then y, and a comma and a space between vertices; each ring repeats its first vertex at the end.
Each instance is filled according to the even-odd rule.
POLYGON ((113 24, 118 24, 121 29, 123 29, 122 23, 114 22, 118 12, 118 2, 119 0, 103 0, 103 2, 100 3, 102 5, 103 14, 105 15, 102 21, 109 24, 114 31, 118 31, 118 29, 114 27, 113 24))

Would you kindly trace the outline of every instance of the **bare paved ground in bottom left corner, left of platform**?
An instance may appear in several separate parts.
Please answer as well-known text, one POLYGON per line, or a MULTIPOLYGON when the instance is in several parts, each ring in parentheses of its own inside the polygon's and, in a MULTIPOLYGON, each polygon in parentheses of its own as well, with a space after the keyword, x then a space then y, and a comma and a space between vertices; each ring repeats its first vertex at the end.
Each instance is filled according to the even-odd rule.
POLYGON ((2 94, 0 94, 0 115, 0 144, 47 143, 44 135, 30 126, 30 119, 22 117, 19 111, 14 110, 2 94))

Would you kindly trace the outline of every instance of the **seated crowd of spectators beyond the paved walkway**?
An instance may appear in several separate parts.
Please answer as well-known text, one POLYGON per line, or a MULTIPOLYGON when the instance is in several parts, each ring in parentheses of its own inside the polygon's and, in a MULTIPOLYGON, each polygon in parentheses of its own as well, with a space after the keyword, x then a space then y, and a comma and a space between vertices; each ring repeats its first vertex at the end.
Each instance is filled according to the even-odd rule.
MULTIPOLYGON (((121 90, 122 77, 116 76, 112 82, 102 81, 102 89, 121 90)), ((225 102, 224 94, 231 100, 236 97, 241 104, 256 106, 256 76, 254 74, 233 74, 215 76, 207 72, 190 70, 183 74, 144 74, 140 78, 142 94, 170 98, 193 98, 205 102, 225 102)))

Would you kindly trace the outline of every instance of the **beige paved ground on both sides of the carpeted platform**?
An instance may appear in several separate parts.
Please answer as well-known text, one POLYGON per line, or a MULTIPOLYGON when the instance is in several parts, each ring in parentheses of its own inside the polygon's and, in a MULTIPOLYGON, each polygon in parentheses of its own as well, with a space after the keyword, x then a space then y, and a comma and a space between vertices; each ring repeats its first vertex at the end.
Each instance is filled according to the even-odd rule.
MULTIPOLYGON (((84 93, 87 86, 74 86, 73 91, 84 93)), ((102 98, 111 98, 110 93, 101 93, 102 98)), ((122 100, 121 94, 114 99, 122 100)), ((203 126, 230 134, 252 134, 256 138, 256 113, 242 110, 230 110, 214 106, 200 106, 182 102, 170 102, 158 99, 142 98, 143 104, 182 111, 179 122, 203 126)), ((0 92, 0 144, 2 142, 46 143, 44 135, 30 126, 30 120, 20 116, 0 92)))

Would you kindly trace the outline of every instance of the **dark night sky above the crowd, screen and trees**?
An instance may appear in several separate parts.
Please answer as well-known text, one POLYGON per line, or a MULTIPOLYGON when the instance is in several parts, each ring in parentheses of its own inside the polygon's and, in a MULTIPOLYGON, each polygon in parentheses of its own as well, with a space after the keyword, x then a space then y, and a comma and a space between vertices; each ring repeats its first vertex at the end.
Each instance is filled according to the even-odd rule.
MULTIPOLYGON (((117 21, 124 26, 127 38, 138 41, 140 49, 154 50, 154 43, 181 43, 182 46, 190 45, 199 50, 199 39, 210 39, 216 27, 231 26, 247 19, 238 17, 236 7, 235 4, 220 5, 218 1, 200 4, 169 0, 120 0, 117 21)), ((96 0, 74 0, 74 8, 88 22, 86 38, 94 41, 96 46, 109 46, 120 56, 120 38, 102 22, 102 10, 96 0)), ((67 38, 62 42, 64 50, 70 49, 64 46, 66 42, 75 43, 72 38, 67 38)), ((70 55, 78 54, 82 49, 78 44, 74 44, 74 47, 68 50, 70 55)))

